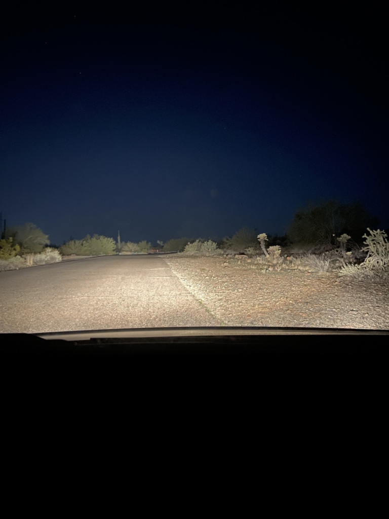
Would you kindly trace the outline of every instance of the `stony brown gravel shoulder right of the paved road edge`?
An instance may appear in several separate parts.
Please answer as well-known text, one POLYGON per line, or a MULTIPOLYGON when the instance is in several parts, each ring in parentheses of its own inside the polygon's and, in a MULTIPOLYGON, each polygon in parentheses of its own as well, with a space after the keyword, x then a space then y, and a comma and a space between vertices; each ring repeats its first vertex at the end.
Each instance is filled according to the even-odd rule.
POLYGON ((225 326, 389 329, 389 283, 336 272, 263 273, 226 257, 163 256, 186 289, 225 326))

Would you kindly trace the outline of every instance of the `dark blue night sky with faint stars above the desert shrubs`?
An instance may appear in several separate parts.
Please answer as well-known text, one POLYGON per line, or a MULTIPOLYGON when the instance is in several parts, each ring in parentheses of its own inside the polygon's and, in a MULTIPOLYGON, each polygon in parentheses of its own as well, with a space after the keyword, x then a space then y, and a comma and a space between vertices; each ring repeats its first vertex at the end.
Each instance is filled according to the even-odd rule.
POLYGON ((0 86, 8 226, 33 222, 57 245, 118 229, 153 244, 242 226, 282 235, 322 199, 362 201, 389 226, 384 3, 13 5, 0 86))

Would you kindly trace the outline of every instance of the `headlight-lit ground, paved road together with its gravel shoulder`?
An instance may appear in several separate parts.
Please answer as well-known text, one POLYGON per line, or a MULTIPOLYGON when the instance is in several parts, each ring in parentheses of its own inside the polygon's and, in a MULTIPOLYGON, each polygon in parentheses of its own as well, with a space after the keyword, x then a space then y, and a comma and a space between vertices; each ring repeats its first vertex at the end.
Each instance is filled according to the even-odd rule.
POLYGON ((176 254, 0 272, 3 333, 179 326, 388 330, 389 283, 176 254))

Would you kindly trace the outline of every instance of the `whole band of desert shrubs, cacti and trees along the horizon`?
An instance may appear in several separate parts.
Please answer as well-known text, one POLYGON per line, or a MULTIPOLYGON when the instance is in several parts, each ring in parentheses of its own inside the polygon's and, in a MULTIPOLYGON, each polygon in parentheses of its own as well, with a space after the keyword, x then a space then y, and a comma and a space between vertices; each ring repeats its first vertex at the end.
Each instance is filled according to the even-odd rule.
POLYGON ((178 253, 180 256, 225 256, 228 262, 247 262, 263 273, 296 269, 312 272, 338 272, 339 277, 355 280, 387 279, 389 243, 383 230, 372 230, 377 223, 359 203, 340 204, 329 200, 309 204, 296 211, 284 236, 272 236, 265 229, 242 227, 230 237, 212 239, 173 238, 149 241, 120 240, 100 235, 71 239, 61 247, 49 247, 48 235, 35 224, 2 230, 0 270, 44 265, 62 260, 63 255, 100 256, 178 253), (366 234, 369 233, 369 234, 366 234))

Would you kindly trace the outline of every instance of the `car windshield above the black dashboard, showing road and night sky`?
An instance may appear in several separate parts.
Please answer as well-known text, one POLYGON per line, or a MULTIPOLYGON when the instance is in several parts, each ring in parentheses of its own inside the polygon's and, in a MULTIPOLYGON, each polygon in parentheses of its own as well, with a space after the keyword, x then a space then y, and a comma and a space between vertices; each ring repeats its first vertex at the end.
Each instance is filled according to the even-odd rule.
POLYGON ((1 333, 389 328, 384 13, 211 4, 9 11, 1 333))

